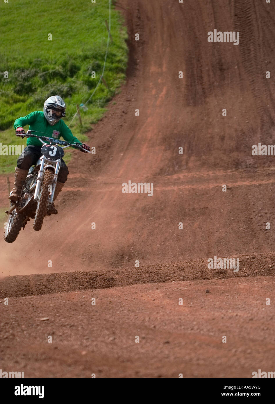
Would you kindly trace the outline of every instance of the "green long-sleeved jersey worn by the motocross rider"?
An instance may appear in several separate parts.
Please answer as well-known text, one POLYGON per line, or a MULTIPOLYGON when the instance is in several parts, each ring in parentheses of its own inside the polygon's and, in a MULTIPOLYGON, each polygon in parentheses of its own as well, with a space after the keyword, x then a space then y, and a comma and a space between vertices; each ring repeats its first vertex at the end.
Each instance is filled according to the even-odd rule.
MULTIPOLYGON (((15 129, 20 127, 23 128, 25 125, 29 125, 29 130, 44 132, 35 133, 35 135, 38 136, 48 136, 55 139, 59 139, 62 136, 63 139, 69 143, 82 143, 80 142, 80 140, 78 140, 77 137, 73 136, 73 134, 71 133, 71 129, 68 128, 68 126, 62 119, 55 125, 51 126, 44 117, 43 111, 34 111, 31 112, 29 115, 21 116, 20 118, 17 118, 15 120, 15 123, 13 124, 15 129)), ((49 142, 45 141, 45 143, 49 142)), ((36 137, 28 137, 27 145, 42 146, 42 143, 36 137)))

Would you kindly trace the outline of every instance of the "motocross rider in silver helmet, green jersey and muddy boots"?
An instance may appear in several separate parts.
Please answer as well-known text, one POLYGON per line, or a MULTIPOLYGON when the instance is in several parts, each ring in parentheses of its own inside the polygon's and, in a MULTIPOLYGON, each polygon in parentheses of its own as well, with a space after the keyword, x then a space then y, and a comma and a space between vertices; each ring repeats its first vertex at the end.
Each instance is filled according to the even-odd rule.
MULTIPOLYGON (((25 137, 25 130, 23 126, 29 125, 29 130, 37 130, 39 132, 44 132, 42 135, 53 137, 59 139, 61 136, 65 141, 69 143, 80 143, 84 151, 90 150, 90 147, 85 143, 80 142, 73 134, 65 122, 61 119, 65 117, 66 105, 65 102, 59 95, 54 95, 49 97, 44 102, 43 111, 34 111, 26 116, 21 116, 17 118, 14 123, 15 134, 17 136, 25 137), (47 135, 45 135, 45 133, 47 135)), ((39 133, 38 133, 39 135, 39 133)), ((48 143, 45 141, 45 143, 48 143)), ((15 182, 14 188, 10 192, 9 199, 12 201, 17 201, 21 189, 27 178, 29 168, 36 164, 37 160, 42 156, 41 153, 42 143, 36 137, 27 138, 27 147, 23 150, 21 156, 17 160, 17 167, 15 167, 15 182)), ((56 200, 59 192, 63 188, 64 183, 67 181, 69 174, 68 167, 66 166, 63 159, 61 160, 61 166, 57 177, 57 185, 55 188, 54 201, 56 200)), ((57 210, 52 204, 47 213, 57 214, 57 210)))

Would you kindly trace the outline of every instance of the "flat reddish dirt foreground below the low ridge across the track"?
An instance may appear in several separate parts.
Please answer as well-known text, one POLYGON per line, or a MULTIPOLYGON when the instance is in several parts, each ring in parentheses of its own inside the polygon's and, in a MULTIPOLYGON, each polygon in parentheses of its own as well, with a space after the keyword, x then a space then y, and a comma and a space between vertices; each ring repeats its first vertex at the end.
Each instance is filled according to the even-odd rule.
POLYGON ((1 366, 25 377, 252 377, 274 368, 274 287, 264 276, 10 298, 1 366))

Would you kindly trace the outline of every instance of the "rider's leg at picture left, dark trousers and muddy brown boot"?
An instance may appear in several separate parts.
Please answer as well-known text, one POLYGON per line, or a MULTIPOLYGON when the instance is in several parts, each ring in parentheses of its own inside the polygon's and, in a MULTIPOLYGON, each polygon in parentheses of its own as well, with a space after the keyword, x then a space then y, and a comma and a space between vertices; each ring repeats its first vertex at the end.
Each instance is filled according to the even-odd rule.
POLYGON ((26 181, 29 168, 36 163, 41 156, 40 146, 28 145, 23 150, 22 154, 17 160, 17 167, 15 167, 15 181, 14 188, 10 193, 9 199, 16 202, 21 194, 21 189, 26 181))

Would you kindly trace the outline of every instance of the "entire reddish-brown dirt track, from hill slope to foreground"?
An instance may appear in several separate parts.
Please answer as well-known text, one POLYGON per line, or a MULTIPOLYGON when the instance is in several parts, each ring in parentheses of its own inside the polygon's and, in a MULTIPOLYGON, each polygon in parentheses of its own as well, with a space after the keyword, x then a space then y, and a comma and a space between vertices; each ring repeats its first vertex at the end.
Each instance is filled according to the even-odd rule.
POLYGON ((0 368, 26 377, 274 371, 275 164, 251 147, 275 144, 275 4, 117 8, 129 33, 127 82, 90 133, 96 156, 74 154, 59 215, 40 233, 28 224, 14 244, 0 240, 2 276, 20 275, 0 282, 10 297, 0 303, 0 368), (238 30, 239 45, 209 43, 214 29, 238 30), (153 196, 122 194, 128 180, 153 182, 153 196), (211 271, 214 256, 239 257, 239 272, 211 271))

